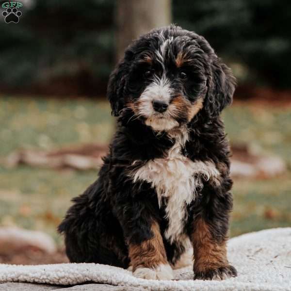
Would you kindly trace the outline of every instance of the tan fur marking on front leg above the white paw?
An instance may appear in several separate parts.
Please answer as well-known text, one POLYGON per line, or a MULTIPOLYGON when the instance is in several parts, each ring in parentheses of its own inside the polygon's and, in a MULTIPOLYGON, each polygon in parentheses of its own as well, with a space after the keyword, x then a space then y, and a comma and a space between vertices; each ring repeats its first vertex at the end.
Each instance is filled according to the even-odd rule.
POLYGON ((129 258, 133 272, 138 267, 154 268, 160 264, 167 264, 166 251, 162 242, 159 225, 152 224, 153 238, 141 244, 129 244, 129 258))

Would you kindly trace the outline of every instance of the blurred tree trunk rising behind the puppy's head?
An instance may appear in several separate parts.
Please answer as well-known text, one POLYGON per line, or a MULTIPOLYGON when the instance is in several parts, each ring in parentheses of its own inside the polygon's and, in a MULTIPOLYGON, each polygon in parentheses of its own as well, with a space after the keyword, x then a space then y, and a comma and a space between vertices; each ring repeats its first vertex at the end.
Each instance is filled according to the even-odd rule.
POLYGON ((117 0, 116 59, 133 39, 171 23, 171 0, 117 0))

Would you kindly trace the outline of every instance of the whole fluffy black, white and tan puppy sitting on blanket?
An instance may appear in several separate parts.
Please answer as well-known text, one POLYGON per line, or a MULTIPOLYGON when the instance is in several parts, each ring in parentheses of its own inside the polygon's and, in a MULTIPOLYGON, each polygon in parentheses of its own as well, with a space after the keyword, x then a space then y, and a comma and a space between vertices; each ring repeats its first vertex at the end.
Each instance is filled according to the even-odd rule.
POLYGON ((72 262, 172 279, 237 275, 226 257, 229 146, 221 111, 235 78, 209 43, 178 26, 135 40, 108 84, 116 134, 99 178, 73 199, 59 226, 72 262))

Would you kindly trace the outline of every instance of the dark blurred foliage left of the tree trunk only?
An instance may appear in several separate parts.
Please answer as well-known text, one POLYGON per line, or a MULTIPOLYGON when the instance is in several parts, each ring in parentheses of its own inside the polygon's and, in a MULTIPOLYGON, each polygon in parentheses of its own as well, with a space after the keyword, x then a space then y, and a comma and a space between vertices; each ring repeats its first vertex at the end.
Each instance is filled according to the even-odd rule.
POLYGON ((60 80, 69 93, 97 95, 113 61, 113 7, 113 0, 24 5, 17 25, 0 23, 0 85, 25 91, 60 80))

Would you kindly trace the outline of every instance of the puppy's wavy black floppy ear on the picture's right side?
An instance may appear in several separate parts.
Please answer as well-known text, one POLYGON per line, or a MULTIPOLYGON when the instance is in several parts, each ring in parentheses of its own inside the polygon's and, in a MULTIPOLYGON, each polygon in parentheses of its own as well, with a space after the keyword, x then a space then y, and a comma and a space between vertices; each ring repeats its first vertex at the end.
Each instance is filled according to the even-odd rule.
POLYGON ((211 66, 208 92, 204 101, 204 108, 211 118, 217 117, 231 104, 235 85, 236 79, 231 70, 220 60, 215 60, 211 66))

